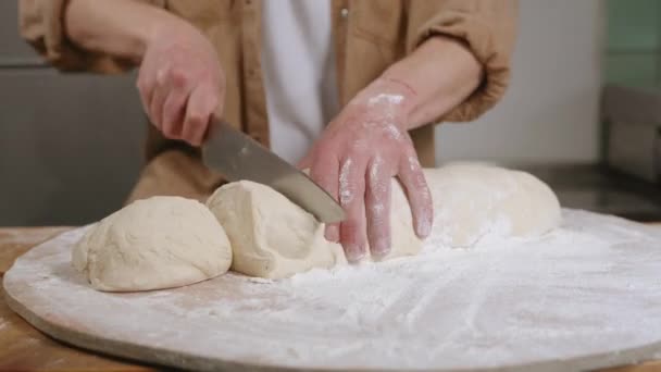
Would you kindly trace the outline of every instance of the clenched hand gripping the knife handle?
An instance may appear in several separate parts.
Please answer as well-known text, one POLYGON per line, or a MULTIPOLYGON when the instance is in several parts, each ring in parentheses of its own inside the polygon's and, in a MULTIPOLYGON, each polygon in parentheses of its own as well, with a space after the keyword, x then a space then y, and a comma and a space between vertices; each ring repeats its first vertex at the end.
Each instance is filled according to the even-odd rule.
POLYGON ((222 113, 225 76, 213 46, 196 28, 182 23, 162 29, 140 64, 142 107, 166 138, 200 146, 211 115, 222 113))

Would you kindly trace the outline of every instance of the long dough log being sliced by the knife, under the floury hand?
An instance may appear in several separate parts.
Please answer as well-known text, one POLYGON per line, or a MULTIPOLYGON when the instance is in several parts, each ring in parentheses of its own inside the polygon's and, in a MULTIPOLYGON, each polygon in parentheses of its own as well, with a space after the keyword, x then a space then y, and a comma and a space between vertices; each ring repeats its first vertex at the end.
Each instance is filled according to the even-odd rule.
MULTIPOLYGON (((560 221, 550 188, 529 174, 479 164, 425 170, 434 198, 434 247, 470 247, 487 235, 536 236, 560 221)), ((267 186, 237 182, 207 201, 234 250, 232 269, 280 278, 346 262, 341 246, 324 239, 324 224, 267 186)), ((392 181, 392 250, 384 259, 417 253, 422 241, 399 183, 392 181)))

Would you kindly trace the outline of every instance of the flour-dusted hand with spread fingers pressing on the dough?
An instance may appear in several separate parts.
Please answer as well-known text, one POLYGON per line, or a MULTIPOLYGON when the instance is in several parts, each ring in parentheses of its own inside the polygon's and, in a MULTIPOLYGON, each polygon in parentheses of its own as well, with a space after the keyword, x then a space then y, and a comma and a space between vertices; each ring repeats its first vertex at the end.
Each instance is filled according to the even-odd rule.
POLYGON ((347 258, 390 251, 390 179, 401 182, 411 207, 415 233, 424 238, 433 222, 432 196, 413 142, 406 129, 414 92, 377 79, 361 91, 328 125, 301 162, 347 213, 341 224, 326 227, 326 239, 341 241, 347 258))

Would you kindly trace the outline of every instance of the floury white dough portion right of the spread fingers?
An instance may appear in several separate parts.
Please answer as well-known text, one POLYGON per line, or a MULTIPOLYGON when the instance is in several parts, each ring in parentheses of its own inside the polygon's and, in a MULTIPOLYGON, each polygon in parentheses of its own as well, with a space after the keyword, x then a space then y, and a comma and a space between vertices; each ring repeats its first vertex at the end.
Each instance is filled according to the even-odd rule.
POLYGON ((425 170, 425 176, 435 244, 471 247, 485 236, 538 236, 560 223, 553 191, 525 172, 457 163, 425 170))

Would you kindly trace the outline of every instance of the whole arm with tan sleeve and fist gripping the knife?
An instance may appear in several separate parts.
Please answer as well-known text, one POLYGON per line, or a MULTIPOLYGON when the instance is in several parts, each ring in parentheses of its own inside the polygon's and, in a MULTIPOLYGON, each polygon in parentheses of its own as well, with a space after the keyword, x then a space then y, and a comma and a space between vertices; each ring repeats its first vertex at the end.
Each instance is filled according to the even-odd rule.
POLYGON ((165 137, 200 145, 224 100, 224 75, 210 41, 158 0, 22 0, 23 36, 62 70, 124 71, 151 123, 165 137))

